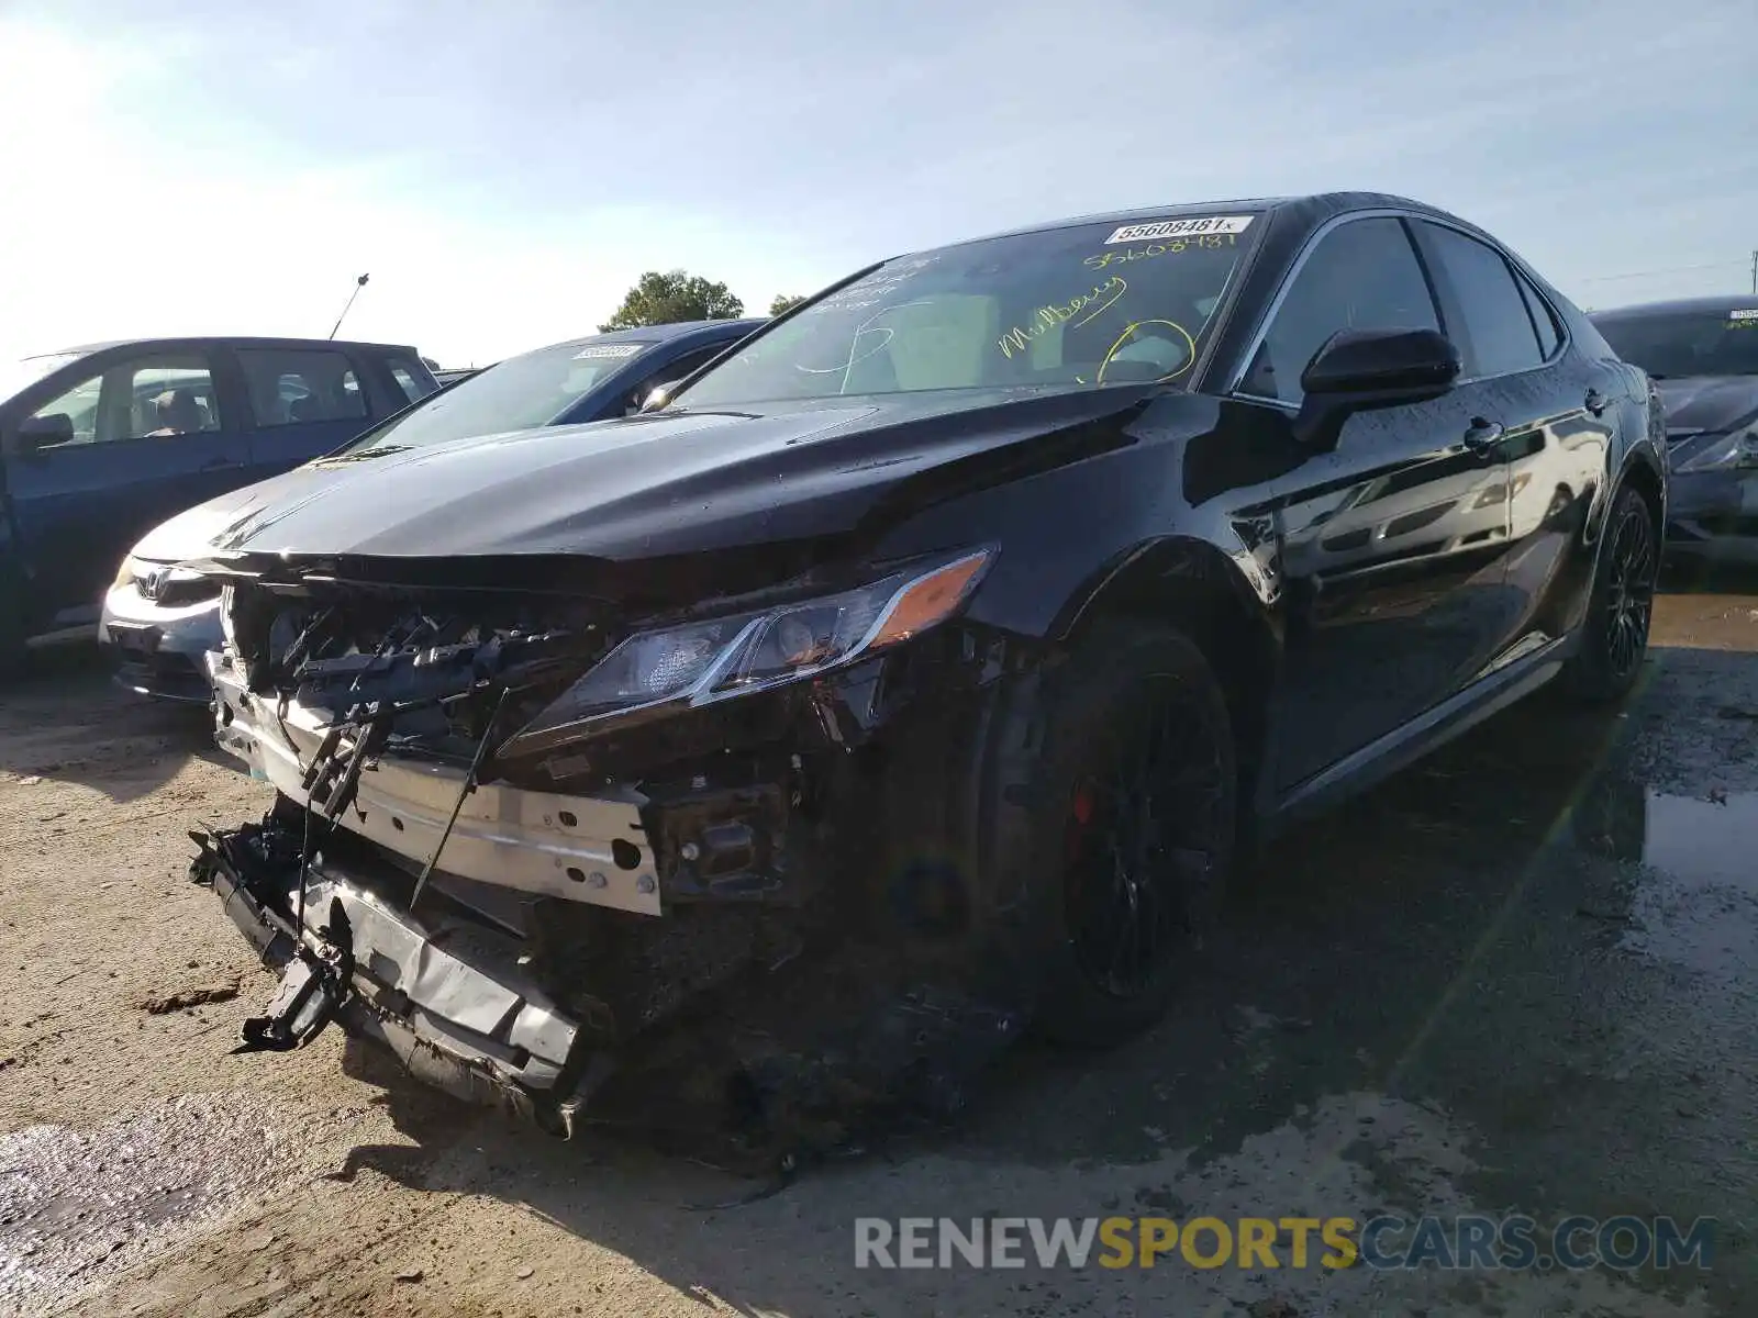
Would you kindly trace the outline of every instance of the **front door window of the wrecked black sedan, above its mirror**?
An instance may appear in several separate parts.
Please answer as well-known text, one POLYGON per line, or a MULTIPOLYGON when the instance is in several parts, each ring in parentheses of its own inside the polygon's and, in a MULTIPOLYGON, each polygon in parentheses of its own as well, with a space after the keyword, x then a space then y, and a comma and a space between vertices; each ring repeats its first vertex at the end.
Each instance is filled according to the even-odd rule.
POLYGON ((1239 381, 1241 394, 1299 406, 1301 373, 1343 329, 1440 330, 1435 295, 1401 221, 1350 220, 1311 250, 1239 381))

